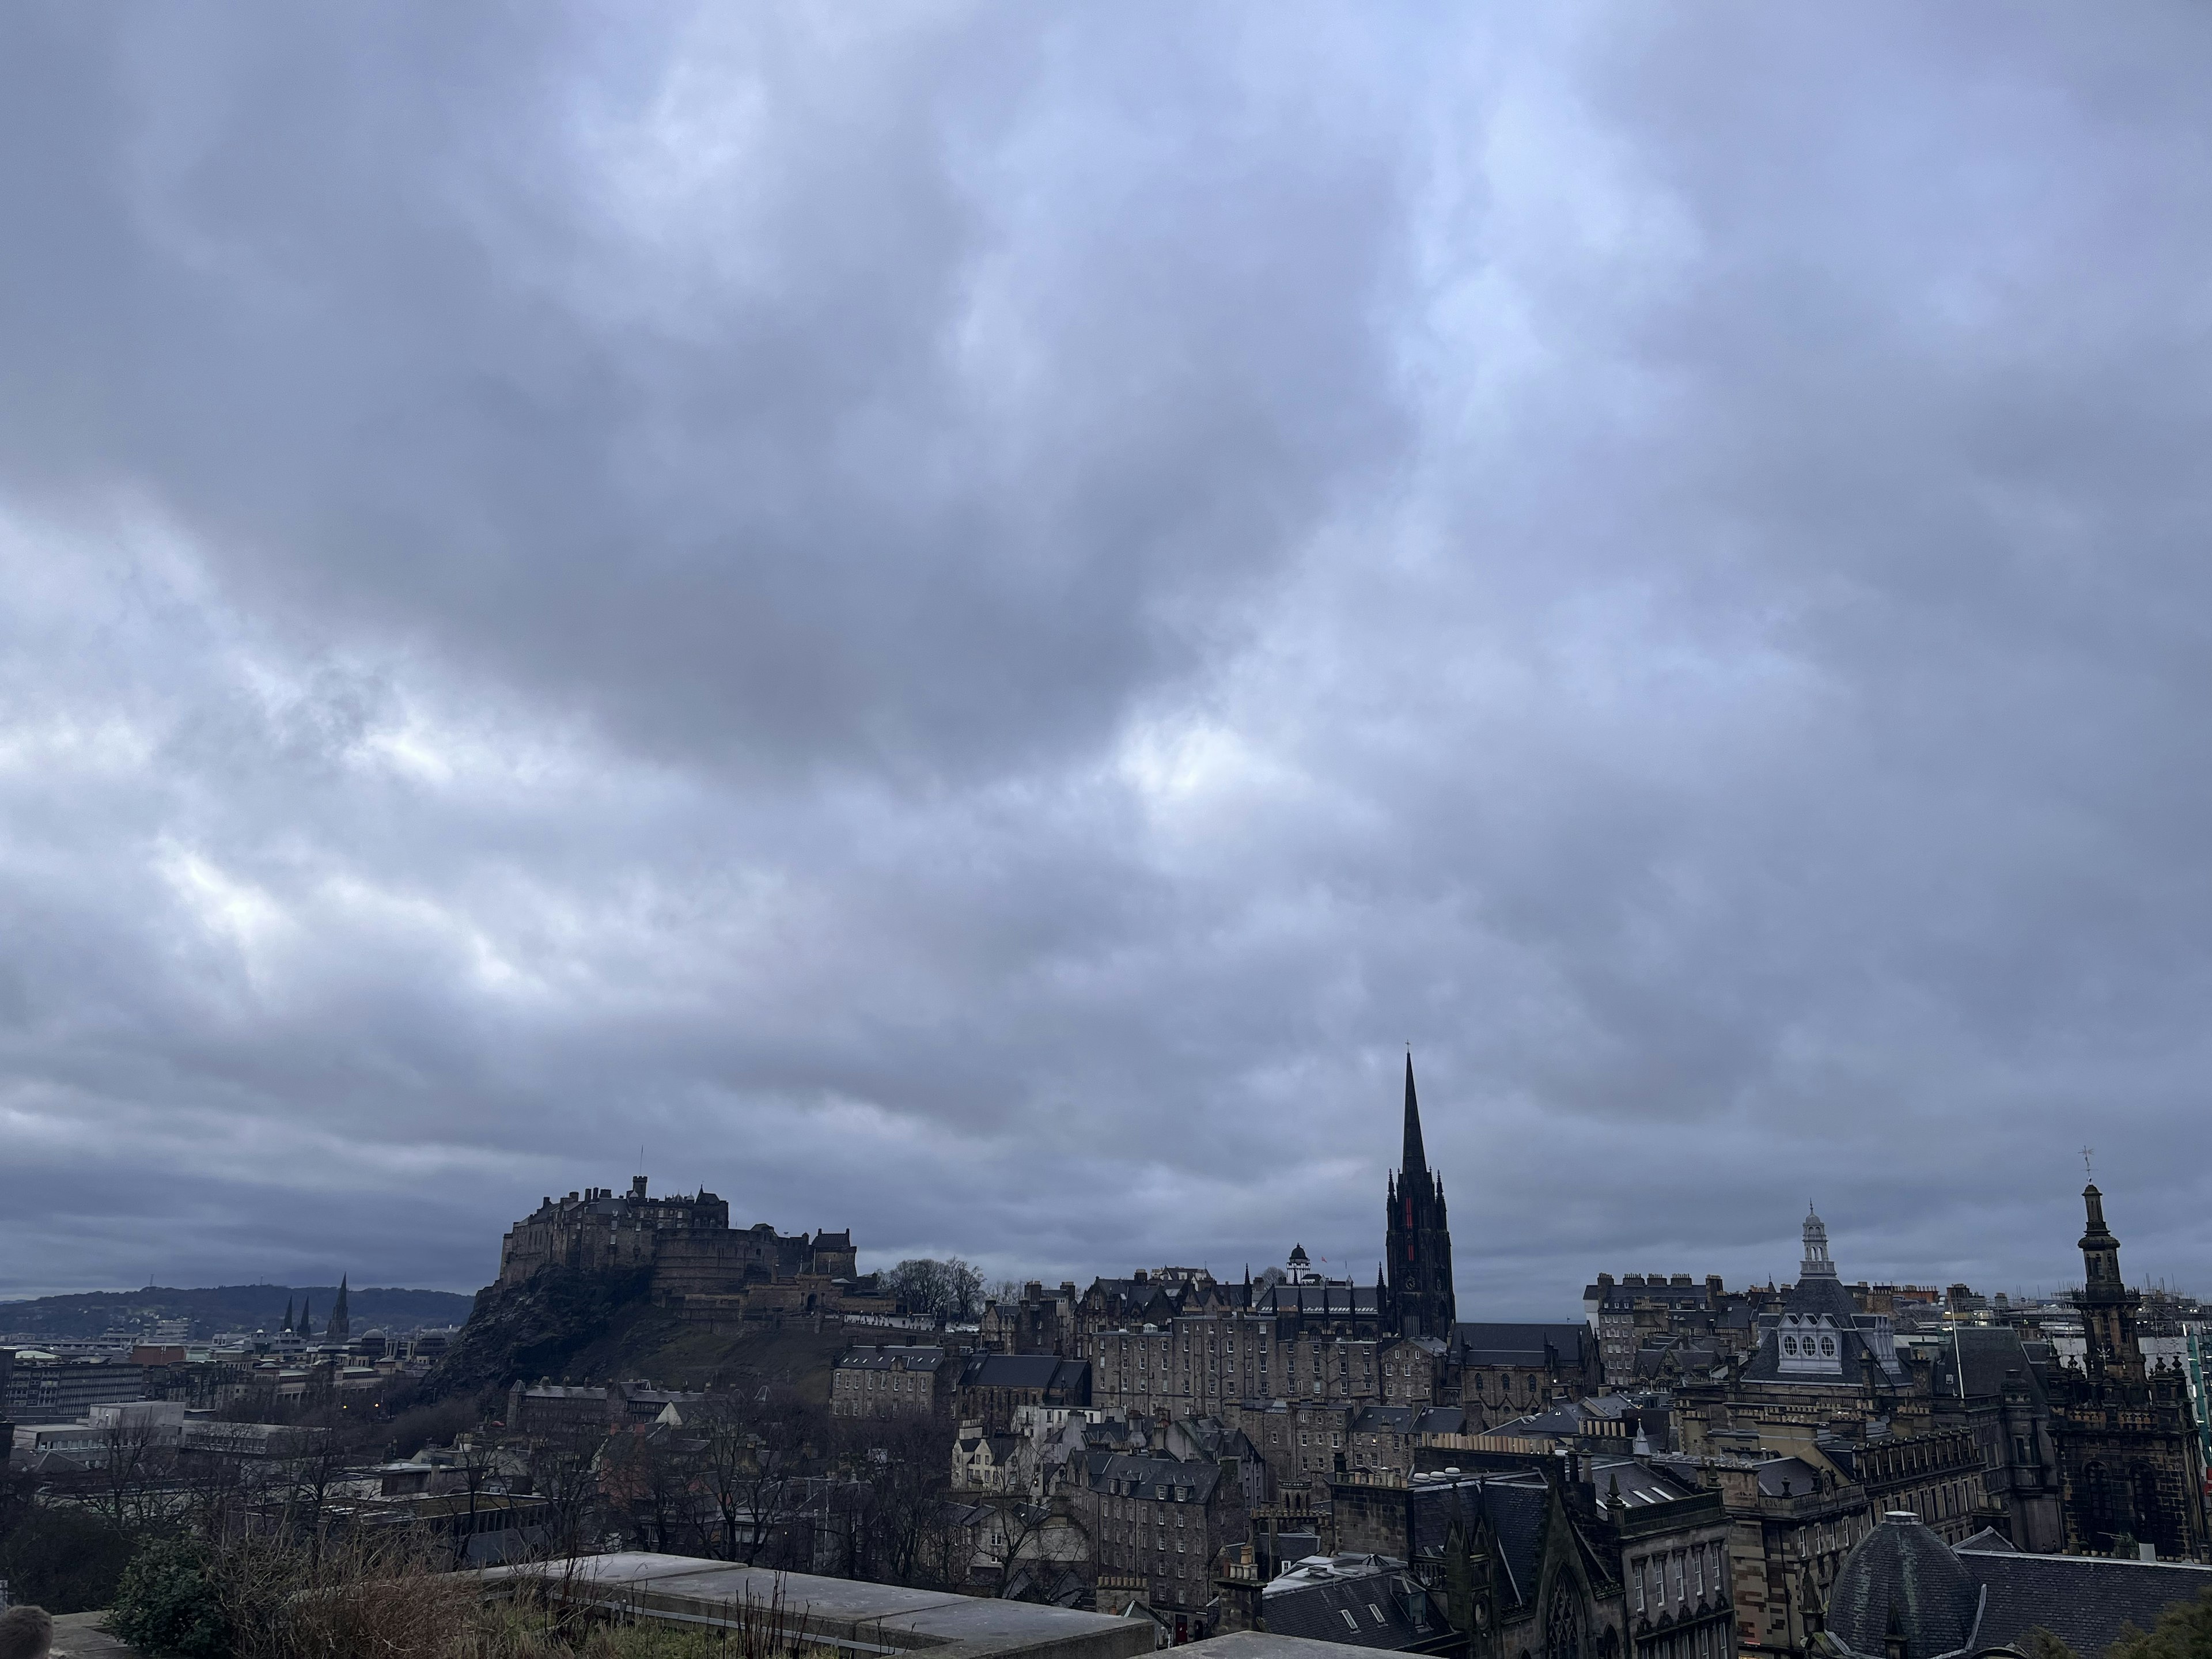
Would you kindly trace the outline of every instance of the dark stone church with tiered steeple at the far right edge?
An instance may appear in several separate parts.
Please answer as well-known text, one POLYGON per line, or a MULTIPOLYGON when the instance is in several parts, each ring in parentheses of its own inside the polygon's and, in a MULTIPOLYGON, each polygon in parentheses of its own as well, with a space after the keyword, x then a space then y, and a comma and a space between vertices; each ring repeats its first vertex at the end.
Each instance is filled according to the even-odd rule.
POLYGON ((2081 1201, 2084 1363, 2057 1367, 2048 1383, 2066 1548, 2132 1555, 2148 1544, 2163 1559, 2203 1559, 2203 1458, 2188 1383, 2179 1367, 2143 1365, 2141 1296, 2119 1276, 2104 1194, 2090 1183, 2081 1201))

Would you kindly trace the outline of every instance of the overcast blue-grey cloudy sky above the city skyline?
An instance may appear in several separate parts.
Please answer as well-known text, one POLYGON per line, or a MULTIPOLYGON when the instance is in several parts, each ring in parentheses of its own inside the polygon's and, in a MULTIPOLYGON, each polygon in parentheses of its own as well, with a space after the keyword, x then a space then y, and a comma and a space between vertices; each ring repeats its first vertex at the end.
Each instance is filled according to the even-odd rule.
POLYGON ((710 1186, 2212 1294, 2212 13, 0 13, 0 1294, 710 1186), (1489 13, 1489 15, 1484 15, 1489 13))

